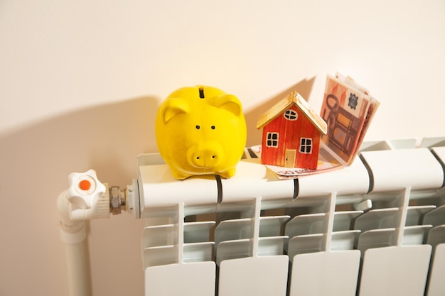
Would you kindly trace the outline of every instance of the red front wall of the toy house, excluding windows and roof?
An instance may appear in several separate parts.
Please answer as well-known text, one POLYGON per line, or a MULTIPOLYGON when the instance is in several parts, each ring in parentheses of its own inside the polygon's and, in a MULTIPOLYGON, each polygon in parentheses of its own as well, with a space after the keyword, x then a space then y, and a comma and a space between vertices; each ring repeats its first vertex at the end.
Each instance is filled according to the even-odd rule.
POLYGON ((284 118, 284 110, 276 119, 264 126, 262 134, 262 163, 266 165, 285 166, 286 149, 296 150, 294 167, 316 169, 318 163, 318 149, 320 148, 320 132, 309 119, 296 107, 289 109, 296 111, 298 119, 290 121, 284 118), (279 133, 279 146, 272 148, 266 146, 267 133, 279 133), (312 138, 312 153, 299 153, 300 138, 312 138))

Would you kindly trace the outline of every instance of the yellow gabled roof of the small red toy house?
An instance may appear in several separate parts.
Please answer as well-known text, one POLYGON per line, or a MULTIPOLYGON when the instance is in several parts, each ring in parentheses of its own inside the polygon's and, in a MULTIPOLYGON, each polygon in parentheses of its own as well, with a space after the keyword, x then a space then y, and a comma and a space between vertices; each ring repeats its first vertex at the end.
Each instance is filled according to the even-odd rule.
POLYGON ((328 133, 328 126, 326 124, 326 121, 324 121, 321 116, 316 114, 316 112, 311 109, 311 106, 309 106, 308 102, 306 102, 306 100, 301 97, 298 92, 291 92, 286 97, 284 97, 284 99, 272 106, 271 109, 267 110, 261 116, 259 116, 259 119, 257 121, 257 128, 263 128, 266 124, 269 124, 270 121, 276 119, 277 116, 289 109, 289 107, 292 105, 297 106, 297 108, 300 109, 301 112, 303 112, 303 114, 309 119, 309 121, 311 121, 312 124, 316 126, 320 133, 323 133, 323 135, 326 135, 326 133, 328 133))

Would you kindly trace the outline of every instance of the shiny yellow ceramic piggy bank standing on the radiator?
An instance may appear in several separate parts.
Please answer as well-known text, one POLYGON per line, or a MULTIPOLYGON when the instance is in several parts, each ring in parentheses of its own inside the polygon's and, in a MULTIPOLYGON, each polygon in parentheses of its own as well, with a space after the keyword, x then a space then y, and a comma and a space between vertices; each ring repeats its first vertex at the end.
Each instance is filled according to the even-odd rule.
POLYGON ((240 100, 215 87, 172 92, 156 115, 156 143, 176 179, 192 175, 235 175, 246 145, 240 100))

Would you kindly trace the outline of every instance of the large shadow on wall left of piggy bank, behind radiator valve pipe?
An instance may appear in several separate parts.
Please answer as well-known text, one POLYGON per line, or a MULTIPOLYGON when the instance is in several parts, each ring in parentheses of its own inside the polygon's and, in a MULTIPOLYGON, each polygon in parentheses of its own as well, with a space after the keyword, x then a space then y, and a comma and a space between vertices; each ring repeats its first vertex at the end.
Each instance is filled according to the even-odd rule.
MULTIPOLYGON (((55 209, 58 194, 68 188, 70 172, 85 172, 90 168, 97 170, 99 179, 109 185, 131 184, 137 177, 137 155, 157 150, 154 119, 158 104, 155 97, 128 99, 61 114, 0 136, 0 197, 7 200, 0 224, 9 225, 0 227, 2 241, 8 242, 0 243, 1 295, 68 292, 55 209), (17 262, 26 262, 26 268, 17 262), (29 279, 28 285, 18 285, 23 278, 29 279)), ((93 239, 95 243, 90 244, 92 265, 104 268, 102 273, 108 270, 104 276, 109 278, 141 270, 143 221, 134 221, 132 216, 116 218, 119 219, 92 221, 89 229, 95 232, 95 238, 100 238, 98 243, 93 239), (110 228, 114 229, 114 236, 110 228), (116 253, 116 248, 109 246, 132 254, 126 257, 120 270, 107 259, 116 253)), ((109 292, 113 291, 102 285, 105 282, 100 277, 102 274, 93 270, 93 292, 111 295, 109 292)), ((143 294, 142 273, 135 273, 127 282, 120 294, 134 290, 132 286, 140 286, 140 295, 143 294)))

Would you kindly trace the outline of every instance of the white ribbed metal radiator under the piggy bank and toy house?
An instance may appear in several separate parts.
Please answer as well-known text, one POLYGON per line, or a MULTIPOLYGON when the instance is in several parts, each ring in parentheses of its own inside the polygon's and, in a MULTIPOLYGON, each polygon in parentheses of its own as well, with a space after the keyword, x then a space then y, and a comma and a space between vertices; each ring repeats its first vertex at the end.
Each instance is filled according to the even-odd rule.
POLYGON ((173 178, 139 156, 145 295, 445 295, 445 138, 364 143, 341 170, 173 178))

